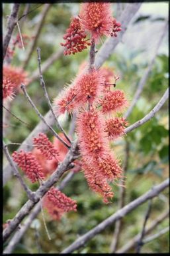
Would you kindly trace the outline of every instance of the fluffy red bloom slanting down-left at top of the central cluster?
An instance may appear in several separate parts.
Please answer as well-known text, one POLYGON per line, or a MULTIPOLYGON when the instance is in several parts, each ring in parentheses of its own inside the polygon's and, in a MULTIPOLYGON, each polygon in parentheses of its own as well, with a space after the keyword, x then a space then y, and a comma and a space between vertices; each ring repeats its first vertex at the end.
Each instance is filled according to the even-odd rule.
POLYGON ((73 84, 63 90, 54 101, 56 113, 64 114, 65 110, 72 112, 87 101, 92 104, 101 94, 104 82, 103 74, 95 68, 91 72, 81 72, 73 84))

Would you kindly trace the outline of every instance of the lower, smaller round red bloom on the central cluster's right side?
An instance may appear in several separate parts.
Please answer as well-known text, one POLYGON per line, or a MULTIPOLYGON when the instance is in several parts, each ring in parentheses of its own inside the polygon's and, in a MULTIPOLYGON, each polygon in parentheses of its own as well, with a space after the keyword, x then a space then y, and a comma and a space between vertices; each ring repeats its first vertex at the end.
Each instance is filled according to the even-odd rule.
POLYGON ((116 139, 125 134, 124 130, 127 126, 125 118, 110 118, 106 120, 105 131, 108 134, 110 140, 116 139))

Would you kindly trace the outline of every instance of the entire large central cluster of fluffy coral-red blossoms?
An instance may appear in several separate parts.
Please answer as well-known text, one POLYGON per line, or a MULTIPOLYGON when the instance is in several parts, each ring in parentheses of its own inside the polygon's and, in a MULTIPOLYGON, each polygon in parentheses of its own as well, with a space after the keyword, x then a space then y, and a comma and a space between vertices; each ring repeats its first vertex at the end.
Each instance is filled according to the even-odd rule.
POLYGON ((103 196, 105 203, 113 196, 108 183, 120 178, 122 172, 109 141, 123 136, 127 125, 124 118, 116 116, 128 106, 124 91, 115 89, 111 83, 116 78, 106 67, 85 72, 79 70, 72 84, 54 101, 58 115, 65 111, 77 113, 77 135, 85 178, 89 187, 103 196))

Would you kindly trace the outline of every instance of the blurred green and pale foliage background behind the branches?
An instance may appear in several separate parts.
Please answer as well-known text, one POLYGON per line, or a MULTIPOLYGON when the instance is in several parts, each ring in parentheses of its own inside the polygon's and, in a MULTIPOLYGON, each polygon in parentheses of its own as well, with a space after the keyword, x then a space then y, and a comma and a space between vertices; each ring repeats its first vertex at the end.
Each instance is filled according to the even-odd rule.
MULTIPOLYGON (((26 4, 21 4, 19 17, 22 15, 25 5, 26 4)), ((36 6, 36 4, 30 4, 30 10, 31 9, 33 9, 33 11, 26 16, 26 20, 22 26, 22 33, 30 37, 34 35, 34 28, 40 20, 43 5, 39 4, 39 6, 36 6), (35 7, 38 8, 35 9, 35 7)), ((116 3, 113 4, 113 9, 116 17, 116 3)), ((159 8, 155 3, 143 3, 140 11, 138 11, 138 15, 134 17, 134 21, 126 31, 127 44, 126 37, 124 37, 122 42, 116 47, 114 53, 112 53, 104 64, 104 66, 113 68, 116 74, 120 75, 120 80, 118 80, 116 87, 123 89, 130 100, 132 100, 138 82, 140 81, 140 78, 142 78, 149 63, 148 50, 144 45, 139 45, 138 40, 136 39, 139 33, 138 27, 143 24, 144 29, 146 29, 146 27, 148 31, 151 29, 152 33, 154 32, 153 37, 155 40, 158 39, 157 35, 159 29, 157 29, 157 27, 159 28, 163 25, 163 22, 167 18, 167 10, 167 3, 159 3, 159 8), (148 10, 151 10, 150 13, 148 10), (153 30, 153 27, 151 27, 153 25, 155 26, 155 31, 153 30), (132 31, 134 31, 133 35, 130 34, 132 31), (130 45, 130 41, 128 41, 128 33, 130 34, 132 41, 136 40, 137 49, 134 49, 132 45, 130 45)), ((60 43, 63 42, 62 36, 65 33, 65 29, 69 26, 71 16, 76 15, 78 11, 78 3, 52 4, 44 21, 44 26, 40 33, 40 37, 38 38, 38 43, 36 44, 36 46, 41 49, 42 63, 46 61, 50 55, 61 49, 60 43)), ((4 31, 7 25, 7 15, 9 15, 10 12, 11 4, 3 4, 4 31)), ((118 19, 118 17, 116 18, 118 19)), ((140 30, 140 33, 143 33, 142 30, 140 30)), ((150 31, 148 33, 150 33, 150 31)), ((17 29, 15 28, 13 37, 16 35, 17 29)), ((104 40, 105 39, 103 39, 103 41, 104 40)), ((153 41, 154 39, 152 40, 152 43, 153 41)), ((146 85, 144 86, 142 95, 134 107, 132 114, 128 117, 129 124, 136 122, 148 114, 149 110, 155 106, 168 86, 169 56, 167 44, 166 35, 146 85)), ((101 45, 102 43, 97 46, 97 49, 99 49, 101 45)), ((29 43, 26 46, 26 52, 28 51, 28 47, 29 43)), ((149 49, 151 49, 151 45, 149 49)), ((11 64, 13 66, 22 66, 26 52, 22 49, 17 49, 11 64)), ((88 58, 88 53, 89 50, 87 49, 75 56, 65 57, 63 55, 44 72, 44 80, 51 100, 53 100, 58 95, 58 92, 64 88, 64 84, 69 83, 70 80, 75 77, 75 74, 79 70, 79 65, 88 58)), ((34 49, 30 62, 26 67, 26 71, 32 74, 37 68, 36 49, 34 49)), ((44 99, 39 80, 37 79, 29 84, 27 89, 33 102, 36 102, 36 106, 38 106, 40 112, 43 115, 46 114, 46 112, 48 112, 48 104, 44 99)), ((8 143, 21 143, 40 120, 34 110, 30 108, 30 104, 24 98, 22 92, 20 92, 13 100, 11 111, 27 122, 29 127, 24 126, 24 124, 13 118, 13 116, 9 116, 10 125, 5 128, 5 141, 8 143)), ((68 132, 70 117, 62 116, 60 122, 62 122, 65 130, 68 132)), ((126 171, 126 203, 136 199, 136 197, 148 191, 151 186, 159 184, 167 178, 169 153, 168 129, 168 106, 166 103, 149 122, 130 132, 124 138, 120 138, 112 143, 112 149, 122 163, 124 162, 125 142, 128 142, 130 146, 128 170, 126 171)), ((57 128, 56 131, 58 131, 57 128)), ((52 138, 50 133, 48 135, 52 138)), ((16 149, 17 146, 9 147, 10 152, 13 152, 16 149)), ((4 158, 4 164, 6 163, 7 160, 4 158)), ((26 182, 32 190, 38 188, 37 184, 32 185, 27 180, 26 182)), ((112 191, 114 192, 114 198, 111 203, 105 205, 101 197, 89 190, 87 182, 83 177, 83 172, 75 174, 73 179, 64 189, 64 193, 77 200, 77 212, 65 214, 60 221, 53 221, 50 219, 49 215, 46 215, 48 231, 52 237, 51 241, 48 240, 46 235, 42 214, 40 213, 22 237, 14 253, 60 253, 65 247, 75 241, 79 235, 83 235, 118 210, 119 187, 112 184, 112 191), (39 247, 40 251, 38 251, 39 247)), ((5 223, 7 219, 13 218, 21 206, 26 202, 26 194, 23 192, 17 179, 12 178, 5 185, 3 196, 3 223, 5 223)), ((148 223, 167 208, 167 202, 167 192, 163 192, 153 199, 148 223)), ((134 237, 134 235, 142 230, 142 223, 147 208, 148 203, 144 203, 144 205, 141 205, 124 217, 119 247, 124 245, 130 238, 134 237)), ((163 229, 163 227, 166 227, 167 225, 168 220, 165 219, 153 233, 156 233, 156 231, 163 229)), ((75 253, 108 253, 113 231, 114 225, 110 225, 110 227, 103 233, 97 235, 89 241, 84 248, 75 251, 75 253)), ((142 253, 168 252, 168 243, 169 236, 168 233, 166 233, 144 245, 142 247, 142 253)), ((131 252, 134 252, 134 250, 131 250, 131 252)))

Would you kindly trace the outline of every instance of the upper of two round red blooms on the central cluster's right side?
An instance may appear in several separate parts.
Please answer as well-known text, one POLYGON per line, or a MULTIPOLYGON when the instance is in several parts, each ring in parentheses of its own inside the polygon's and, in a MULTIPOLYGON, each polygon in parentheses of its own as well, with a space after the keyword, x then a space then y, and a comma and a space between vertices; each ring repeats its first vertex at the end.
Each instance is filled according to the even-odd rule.
POLYGON ((122 111, 128 106, 123 90, 105 90, 103 99, 100 100, 103 113, 122 111))

